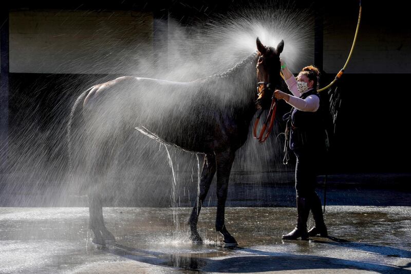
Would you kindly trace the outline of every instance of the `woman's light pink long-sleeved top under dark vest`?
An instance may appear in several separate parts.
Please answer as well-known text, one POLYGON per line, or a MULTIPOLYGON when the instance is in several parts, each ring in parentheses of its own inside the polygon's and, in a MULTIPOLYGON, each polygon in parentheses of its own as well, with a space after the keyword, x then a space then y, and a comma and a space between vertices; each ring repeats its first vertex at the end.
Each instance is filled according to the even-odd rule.
MULTIPOLYGON (((290 100, 288 100, 288 104, 292 105, 296 109, 304 112, 316 112, 317 109, 320 107, 320 98, 315 95, 309 95, 305 99, 301 99, 300 96, 303 95, 304 93, 300 93, 297 90, 297 80, 291 76, 286 80, 286 84, 288 86, 288 89, 292 92, 292 95, 290 95, 290 100)), ((306 92, 311 90, 312 88, 308 89, 306 92)), ((305 92, 305 93, 306 93, 305 92)))

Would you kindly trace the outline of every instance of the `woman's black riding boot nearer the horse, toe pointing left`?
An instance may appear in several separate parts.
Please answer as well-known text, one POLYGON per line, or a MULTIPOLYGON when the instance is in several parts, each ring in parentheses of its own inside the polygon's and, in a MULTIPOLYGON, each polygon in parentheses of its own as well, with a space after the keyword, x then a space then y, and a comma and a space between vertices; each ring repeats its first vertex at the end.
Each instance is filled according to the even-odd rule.
POLYGON ((307 220, 310 213, 310 204, 307 198, 297 196, 297 226, 290 233, 283 235, 284 240, 308 240, 307 220))

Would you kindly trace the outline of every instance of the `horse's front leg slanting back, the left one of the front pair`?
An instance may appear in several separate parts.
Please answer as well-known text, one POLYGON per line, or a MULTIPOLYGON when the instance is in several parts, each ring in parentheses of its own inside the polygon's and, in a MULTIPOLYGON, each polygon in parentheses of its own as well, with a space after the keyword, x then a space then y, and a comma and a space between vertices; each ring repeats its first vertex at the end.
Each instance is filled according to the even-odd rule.
POLYGON ((190 239, 193 242, 201 243, 202 239, 197 232, 198 215, 200 214, 202 203, 206 199, 207 193, 210 189, 211 181, 215 174, 215 156, 213 154, 207 154, 204 158, 202 166, 201 178, 200 178, 200 193, 197 197, 197 203, 193 207, 191 212, 189 224, 191 229, 190 239))

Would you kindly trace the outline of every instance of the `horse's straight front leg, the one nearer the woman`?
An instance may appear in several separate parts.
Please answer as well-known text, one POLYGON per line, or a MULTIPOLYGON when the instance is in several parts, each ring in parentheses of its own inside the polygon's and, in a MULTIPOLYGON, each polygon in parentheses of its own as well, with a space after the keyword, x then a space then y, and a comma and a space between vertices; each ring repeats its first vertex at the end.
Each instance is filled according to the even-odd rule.
POLYGON ((217 216, 215 228, 220 232, 226 246, 237 246, 234 237, 227 231, 225 224, 225 208, 227 200, 228 182, 235 153, 231 149, 216 155, 217 165, 217 216))

